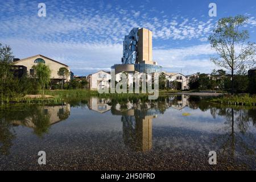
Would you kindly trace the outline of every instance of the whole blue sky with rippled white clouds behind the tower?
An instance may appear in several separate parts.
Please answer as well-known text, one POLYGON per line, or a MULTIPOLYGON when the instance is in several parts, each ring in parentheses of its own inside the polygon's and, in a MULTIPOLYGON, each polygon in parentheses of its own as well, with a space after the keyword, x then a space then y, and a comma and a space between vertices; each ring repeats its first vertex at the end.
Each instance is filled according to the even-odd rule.
POLYGON ((256 42, 256 1, 2 1, 0 43, 23 59, 42 54, 88 75, 120 64, 122 40, 133 27, 153 34, 153 59, 167 72, 210 73, 214 54, 207 37, 218 19, 249 17, 246 29, 256 42), (38 16, 38 3, 46 17, 38 16), (208 15, 209 3, 217 17, 208 15))

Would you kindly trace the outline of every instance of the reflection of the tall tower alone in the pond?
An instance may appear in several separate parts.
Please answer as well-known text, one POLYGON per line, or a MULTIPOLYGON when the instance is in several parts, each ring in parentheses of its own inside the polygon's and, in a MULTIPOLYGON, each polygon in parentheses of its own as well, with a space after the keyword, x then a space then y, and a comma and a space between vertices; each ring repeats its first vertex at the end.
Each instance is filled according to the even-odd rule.
POLYGON ((148 151, 152 148, 152 119, 147 111, 130 109, 122 115, 123 140, 126 146, 135 151, 148 151))

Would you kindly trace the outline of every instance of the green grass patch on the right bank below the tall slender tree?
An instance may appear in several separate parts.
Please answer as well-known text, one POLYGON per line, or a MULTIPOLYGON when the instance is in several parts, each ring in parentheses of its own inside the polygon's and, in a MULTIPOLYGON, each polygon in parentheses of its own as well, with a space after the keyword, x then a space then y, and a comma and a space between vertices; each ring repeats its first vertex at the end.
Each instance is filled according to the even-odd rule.
POLYGON ((256 95, 250 96, 249 94, 236 94, 224 95, 217 98, 212 98, 212 102, 218 102, 228 105, 242 105, 242 106, 256 106, 256 95))

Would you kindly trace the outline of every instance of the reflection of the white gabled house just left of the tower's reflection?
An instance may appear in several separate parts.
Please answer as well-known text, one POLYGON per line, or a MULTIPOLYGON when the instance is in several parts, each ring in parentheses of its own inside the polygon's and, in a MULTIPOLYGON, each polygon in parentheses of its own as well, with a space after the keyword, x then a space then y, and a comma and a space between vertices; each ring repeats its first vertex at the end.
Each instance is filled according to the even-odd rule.
POLYGON ((90 97, 87 106, 91 110, 97 111, 99 113, 105 113, 106 111, 109 111, 111 108, 108 105, 109 101, 110 100, 106 98, 90 97))

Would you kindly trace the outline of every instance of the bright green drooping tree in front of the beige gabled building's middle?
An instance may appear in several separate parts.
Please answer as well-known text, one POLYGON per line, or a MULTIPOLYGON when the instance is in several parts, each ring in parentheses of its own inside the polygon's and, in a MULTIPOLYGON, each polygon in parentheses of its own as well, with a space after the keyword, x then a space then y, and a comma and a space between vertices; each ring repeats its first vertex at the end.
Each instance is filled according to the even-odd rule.
POLYGON ((32 69, 35 69, 36 78, 38 79, 38 82, 43 89, 44 95, 44 88, 49 84, 51 80, 51 70, 49 69, 49 66, 43 63, 33 65, 32 69))

